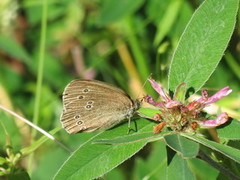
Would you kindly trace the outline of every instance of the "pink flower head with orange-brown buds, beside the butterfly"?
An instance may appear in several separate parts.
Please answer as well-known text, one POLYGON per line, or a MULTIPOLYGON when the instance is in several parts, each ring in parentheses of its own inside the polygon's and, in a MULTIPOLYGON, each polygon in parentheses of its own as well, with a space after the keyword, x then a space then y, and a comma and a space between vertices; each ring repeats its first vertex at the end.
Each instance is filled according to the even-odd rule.
MULTIPOLYGON (((152 119, 160 121, 160 124, 154 127, 154 133, 158 133, 164 126, 171 128, 174 131, 186 132, 195 131, 200 128, 217 127, 228 121, 227 113, 221 113, 216 119, 207 120, 202 116, 203 109, 219 99, 227 96, 232 90, 227 86, 218 91, 213 96, 209 97, 206 90, 202 90, 202 96, 184 105, 182 102, 171 98, 162 88, 160 84, 149 78, 153 89, 159 94, 160 101, 156 102, 150 95, 144 97, 145 102, 157 107, 160 113, 155 114, 152 119)), ((183 84, 181 84, 182 86, 183 84)), ((181 88, 177 88, 181 89, 181 88)), ((178 92, 176 92, 177 94, 178 92)), ((180 93, 179 93, 180 94, 180 93)))

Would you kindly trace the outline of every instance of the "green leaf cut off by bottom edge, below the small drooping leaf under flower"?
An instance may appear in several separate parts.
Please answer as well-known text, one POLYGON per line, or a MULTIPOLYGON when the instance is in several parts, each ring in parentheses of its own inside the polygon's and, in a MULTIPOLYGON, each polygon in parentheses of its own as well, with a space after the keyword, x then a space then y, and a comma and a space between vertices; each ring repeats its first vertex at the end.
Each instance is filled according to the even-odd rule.
POLYGON ((192 180, 196 179, 193 173, 190 171, 188 164, 182 156, 175 154, 167 167, 166 179, 173 180, 192 180))

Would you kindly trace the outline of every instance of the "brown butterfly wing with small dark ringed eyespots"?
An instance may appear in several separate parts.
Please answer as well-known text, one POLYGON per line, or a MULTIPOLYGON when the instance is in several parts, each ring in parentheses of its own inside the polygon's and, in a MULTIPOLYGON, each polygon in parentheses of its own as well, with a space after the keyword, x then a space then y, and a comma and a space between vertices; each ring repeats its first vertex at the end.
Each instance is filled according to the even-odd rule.
POLYGON ((135 110, 123 90, 95 80, 74 80, 63 93, 61 122, 68 133, 110 128, 135 110))

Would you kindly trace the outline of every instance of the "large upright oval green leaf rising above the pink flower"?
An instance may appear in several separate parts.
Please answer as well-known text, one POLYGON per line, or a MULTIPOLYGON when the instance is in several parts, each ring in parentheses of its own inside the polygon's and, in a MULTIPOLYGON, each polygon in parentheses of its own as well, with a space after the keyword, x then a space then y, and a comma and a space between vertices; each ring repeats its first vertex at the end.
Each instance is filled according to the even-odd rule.
POLYGON ((234 30, 239 0, 205 0, 181 36, 169 71, 174 92, 180 83, 196 92, 218 65, 234 30))

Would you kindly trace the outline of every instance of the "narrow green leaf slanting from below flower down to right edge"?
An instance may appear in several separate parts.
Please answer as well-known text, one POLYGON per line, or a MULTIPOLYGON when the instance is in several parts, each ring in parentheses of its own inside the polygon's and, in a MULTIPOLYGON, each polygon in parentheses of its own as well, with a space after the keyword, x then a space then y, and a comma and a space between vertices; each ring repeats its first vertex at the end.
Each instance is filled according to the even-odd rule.
POLYGON ((240 163, 240 150, 234 149, 230 146, 219 144, 213 141, 210 141, 208 139, 202 138, 202 137, 197 137, 197 136, 190 136, 187 134, 182 134, 182 136, 187 137, 188 139, 192 139, 210 149, 213 149, 215 151, 218 151, 228 158, 236 161, 237 163, 240 163))

